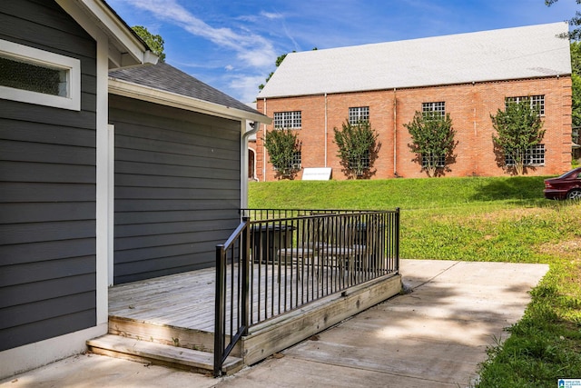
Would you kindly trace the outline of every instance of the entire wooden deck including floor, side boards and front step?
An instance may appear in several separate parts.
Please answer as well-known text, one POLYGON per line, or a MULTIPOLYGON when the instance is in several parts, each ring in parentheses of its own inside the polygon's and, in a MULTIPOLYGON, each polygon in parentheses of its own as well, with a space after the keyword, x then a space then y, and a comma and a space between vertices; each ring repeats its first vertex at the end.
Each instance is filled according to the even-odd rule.
MULTIPOLYGON (((251 302, 256 324, 232 350, 226 373, 257 363, 401 290, 399 274, 339 292, 335 281, 345 279, 337 276, 338 269, 313 274, 304 272, 302 266, 298 274, 296 266, 252 267, 253 292, 266 302, 251 302), (313 293, 327 296, 313 300, 313 293), (309 295, 311 302, 301 304, 309 295)), ((89 348, 95 353, 208 373, 212 363, 207 360, 212 360, 214 345, 214 294, 213 268, 113 286, 109 290, 109 334, 88 342, 89 348)))

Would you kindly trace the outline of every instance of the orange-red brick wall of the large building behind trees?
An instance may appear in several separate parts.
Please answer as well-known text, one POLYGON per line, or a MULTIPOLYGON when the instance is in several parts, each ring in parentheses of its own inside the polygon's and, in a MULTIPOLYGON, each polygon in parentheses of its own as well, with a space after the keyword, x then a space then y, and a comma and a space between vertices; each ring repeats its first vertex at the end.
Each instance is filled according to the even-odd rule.
MULTIPOLYGON (((349 108, 369 106, 369 122, 379 134, 379 157, 372 166, 372 179, 395 176, 425 177, 426 172, 414 162, 409 151, 411 139, 403 124, 409 123, 422 103, 444 101, 450 114, 458 142, 455 160, 448 164, 444 176, 497 176, 511 174, 497 164, 492 142, 490 114, 504 109, 505 97, 545 95, 545 122, 547 130, 545 165, 527 167, 525 174, 561 174, 571 166, 571 78, 547 77, 465 85, 443 85, 399 90, 382 90, 333 95, 259 100, 257 109, 273 116, 274 112, 301 111, 302 127, 297 130, 301 141, 302 167, 332 168, 332 179, 347 179, 341 171, 334 144, 333 128, 340 128, 349 115, 349 108), (395 144, 395 145, 394 145, 395 144)), ((271 164, 264 164, 265 149, 262 126, 256 141, 256 173, 260 181, 275 179, 271 164)), ((301 178, 300 172, 296 179, 301 178)))

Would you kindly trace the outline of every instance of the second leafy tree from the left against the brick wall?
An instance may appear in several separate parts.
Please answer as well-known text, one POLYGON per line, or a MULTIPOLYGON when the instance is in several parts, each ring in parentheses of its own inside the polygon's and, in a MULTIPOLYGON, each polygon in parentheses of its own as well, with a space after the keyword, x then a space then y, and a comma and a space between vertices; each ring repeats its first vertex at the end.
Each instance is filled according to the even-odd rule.
POLYGON ((343 171, 350 177, 369 177, 380 146, 377 142, 379 134, 371 128, 369 121, 350 124, 346 119, 340 130, 334 127, 333 131, 343 171))

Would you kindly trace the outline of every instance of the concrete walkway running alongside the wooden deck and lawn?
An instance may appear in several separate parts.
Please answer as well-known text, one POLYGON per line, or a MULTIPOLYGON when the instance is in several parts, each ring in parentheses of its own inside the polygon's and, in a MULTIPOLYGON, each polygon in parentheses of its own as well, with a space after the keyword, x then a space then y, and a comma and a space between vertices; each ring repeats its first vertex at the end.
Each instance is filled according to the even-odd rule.
POLYGON ((0 382, 20 387, 467 387, 545 264, 403 260, 408 293, 222 379, 83 354, 0 382))

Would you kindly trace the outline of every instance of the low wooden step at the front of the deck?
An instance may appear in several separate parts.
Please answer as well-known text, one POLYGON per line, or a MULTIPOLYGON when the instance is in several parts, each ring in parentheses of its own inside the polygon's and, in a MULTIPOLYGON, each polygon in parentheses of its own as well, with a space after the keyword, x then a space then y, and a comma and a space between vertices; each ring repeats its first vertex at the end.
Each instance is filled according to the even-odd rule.
MULTIPOLYGON (((87 346, 93 353, 111 357, 155 363, 195 373, 206 374, 213 372, 214 355, 212 353, 125 338, 113 334, 105 334, 89 340, 87 341, 87 346)), ((236 373, 241 370, 242 366, 241 358, 228 357, 222 367, 222 372, 226 374, 236 373)))

